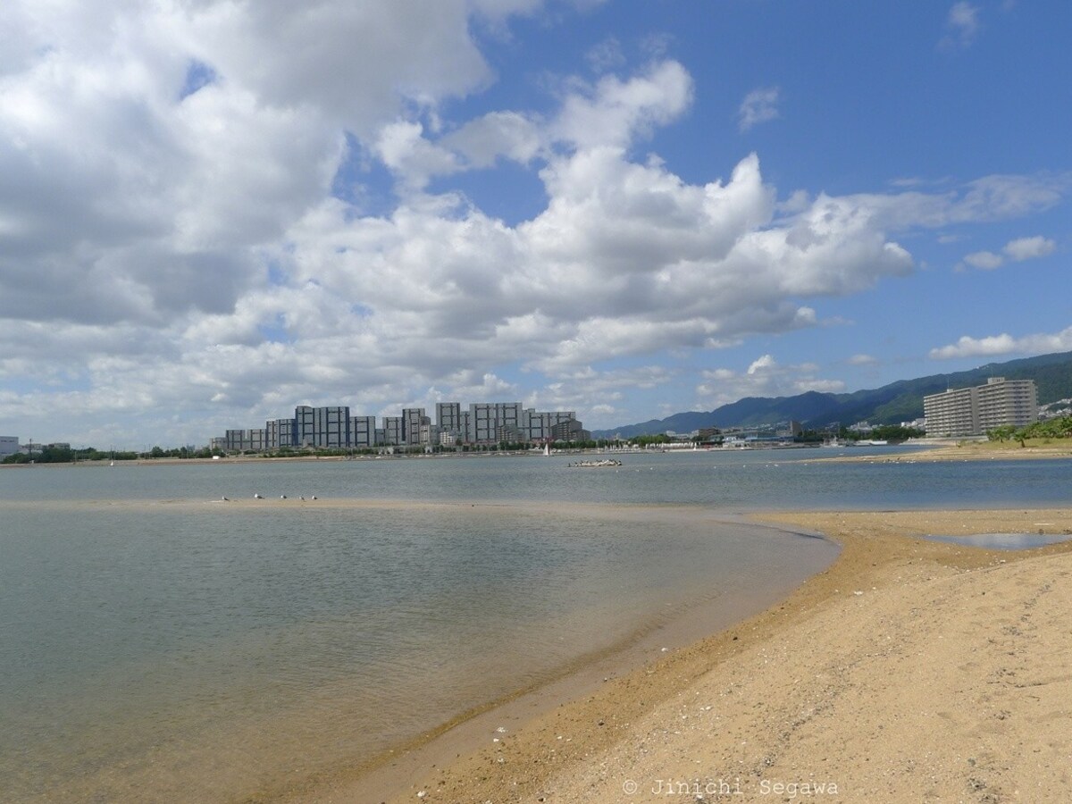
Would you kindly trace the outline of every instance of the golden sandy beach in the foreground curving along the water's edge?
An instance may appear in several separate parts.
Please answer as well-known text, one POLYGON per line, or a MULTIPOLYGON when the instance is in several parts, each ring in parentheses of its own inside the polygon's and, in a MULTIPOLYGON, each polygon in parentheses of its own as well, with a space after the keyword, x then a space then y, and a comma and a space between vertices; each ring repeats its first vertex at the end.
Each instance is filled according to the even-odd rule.
POLYGON ((1072 509, 758 519, 822 532, 843 553, 783 604, 580 698, 441 735, 404 789, 368 798, 361 778, 337 779, 293 800, 1067 798, 1072 542, 984 550, 921 535, 1068 534, 1072 509))

